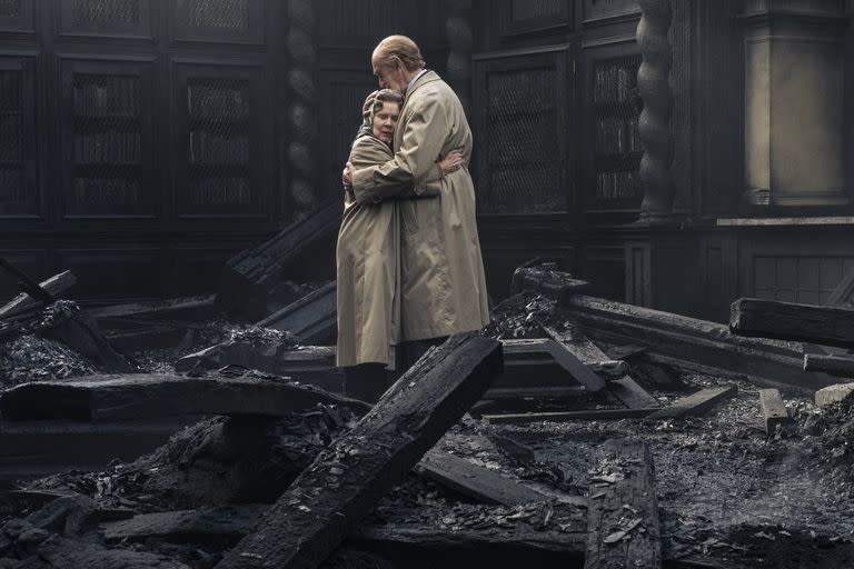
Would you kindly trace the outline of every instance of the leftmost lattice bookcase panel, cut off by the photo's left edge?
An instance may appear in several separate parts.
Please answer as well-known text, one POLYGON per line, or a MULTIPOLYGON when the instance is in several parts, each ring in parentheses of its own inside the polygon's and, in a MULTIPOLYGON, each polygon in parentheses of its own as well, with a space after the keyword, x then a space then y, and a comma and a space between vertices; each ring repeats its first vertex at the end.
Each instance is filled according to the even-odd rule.
POLYGON ((23 91, 20 71, 0 71, 0 202, 24 200, 23 91))

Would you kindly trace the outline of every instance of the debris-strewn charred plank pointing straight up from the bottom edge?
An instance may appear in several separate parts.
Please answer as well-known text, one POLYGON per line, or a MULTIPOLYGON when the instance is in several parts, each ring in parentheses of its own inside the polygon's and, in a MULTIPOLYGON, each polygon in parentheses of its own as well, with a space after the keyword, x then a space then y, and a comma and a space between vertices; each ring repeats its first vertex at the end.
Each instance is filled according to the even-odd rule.
POLYGON ((596 449, 585 569, 662 566, 655 467, 648 445, 607 440, 596 449))

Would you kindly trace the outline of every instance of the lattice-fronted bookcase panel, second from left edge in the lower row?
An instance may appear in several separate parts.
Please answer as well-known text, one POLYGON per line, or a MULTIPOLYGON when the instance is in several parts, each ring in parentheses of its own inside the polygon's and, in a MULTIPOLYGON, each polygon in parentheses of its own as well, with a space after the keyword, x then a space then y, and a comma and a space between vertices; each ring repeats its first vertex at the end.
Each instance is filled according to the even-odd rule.
POLYGON ((141 201, 142 113, 137 76, 73 76, 73 209, 141 201))

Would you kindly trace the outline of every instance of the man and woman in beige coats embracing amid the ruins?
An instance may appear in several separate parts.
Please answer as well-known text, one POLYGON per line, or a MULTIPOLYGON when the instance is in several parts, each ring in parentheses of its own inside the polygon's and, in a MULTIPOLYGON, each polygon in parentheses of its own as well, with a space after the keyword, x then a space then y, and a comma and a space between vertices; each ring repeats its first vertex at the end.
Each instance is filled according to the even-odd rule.
POLYGON ((387 370, 479 330, 489 309, 463 106, 405 36, 380 41, 371 66, 381 89, 342 177, 337 365, 348 396, 376 401, 387 370))

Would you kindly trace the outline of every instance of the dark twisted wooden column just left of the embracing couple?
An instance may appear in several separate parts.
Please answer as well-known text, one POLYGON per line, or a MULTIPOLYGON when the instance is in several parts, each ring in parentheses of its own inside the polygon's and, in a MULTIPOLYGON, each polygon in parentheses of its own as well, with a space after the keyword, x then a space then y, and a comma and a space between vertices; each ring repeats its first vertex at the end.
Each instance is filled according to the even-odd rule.
POLYGON ((317 204, 316 141, 317 86, 315 69, 315 9, 311 0, 288 0, 288 194, 291 219, 317 204))

